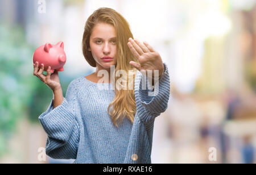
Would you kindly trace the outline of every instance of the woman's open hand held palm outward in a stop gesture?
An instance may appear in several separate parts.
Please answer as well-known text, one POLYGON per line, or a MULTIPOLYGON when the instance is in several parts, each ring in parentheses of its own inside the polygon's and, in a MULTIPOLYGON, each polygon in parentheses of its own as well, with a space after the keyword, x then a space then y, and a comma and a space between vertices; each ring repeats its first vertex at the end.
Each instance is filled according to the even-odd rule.
POLYGON ((147 70, 152 70, 152 77, 150 78, 159 78, 162 75, 164 70, 163 61, 158 52, 146 42, 139 42, 136 39, 129 38, 127 43, 130 51, 135 57, 137 57, 139 64, 135 61, 130 61, 130 64, 133 65, 139 72, 147 74, 147 70), (154 70, 159 70, 158 77, 154 76, 154 70))

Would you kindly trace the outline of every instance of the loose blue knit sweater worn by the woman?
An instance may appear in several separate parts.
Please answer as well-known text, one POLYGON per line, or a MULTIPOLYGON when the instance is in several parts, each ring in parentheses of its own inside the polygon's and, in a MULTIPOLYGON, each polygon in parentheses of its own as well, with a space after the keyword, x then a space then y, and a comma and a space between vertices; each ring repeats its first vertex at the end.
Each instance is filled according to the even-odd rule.
MULTIPOLYGON (((108 114, 114 90, 100 90, 98 84, 79 77, 67 89, 61 105, 53 99, 39 121, 48 135, 46 154, 53 159, 76 159, 74 163, 151 163, 154 120, 167 109, 170 78, 164 63, 157 95, 142 89, 144 75, 137 72, 134 94, 137 106, 134 123, 125 118, 115 127, 108 114)), ((147 79, 147 78, 146 78, 147 79)))

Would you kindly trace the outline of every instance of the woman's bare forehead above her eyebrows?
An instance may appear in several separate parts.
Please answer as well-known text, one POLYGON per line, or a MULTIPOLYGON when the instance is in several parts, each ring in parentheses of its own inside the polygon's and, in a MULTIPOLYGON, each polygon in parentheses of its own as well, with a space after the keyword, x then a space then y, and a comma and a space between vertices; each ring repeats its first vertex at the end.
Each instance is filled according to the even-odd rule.
POLYGON ((114 26, 107 23, 97 23, 96 26, 93 27, 91 34, 92 38, 113 38, 115 36, 114 26))

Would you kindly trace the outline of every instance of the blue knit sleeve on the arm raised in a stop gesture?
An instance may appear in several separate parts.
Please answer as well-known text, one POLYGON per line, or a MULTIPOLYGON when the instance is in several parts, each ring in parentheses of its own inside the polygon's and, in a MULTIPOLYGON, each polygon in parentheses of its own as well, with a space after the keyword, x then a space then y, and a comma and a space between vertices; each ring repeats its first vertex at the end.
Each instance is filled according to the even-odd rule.
POLYGON ((170 97, 170 78, 166 63, 164 64, 164 72, 160 80, 150 86, 147 77, 141 72, 137 73, 135 78, 135 101, 137 105, 137 113, 142 122, 148 123, 156 116, 166 111, 168 100, 170 97), (146 88, 142 87, 142 82, 146 82, 146 88), (151 87, 151 88, 150 88, 151 87))

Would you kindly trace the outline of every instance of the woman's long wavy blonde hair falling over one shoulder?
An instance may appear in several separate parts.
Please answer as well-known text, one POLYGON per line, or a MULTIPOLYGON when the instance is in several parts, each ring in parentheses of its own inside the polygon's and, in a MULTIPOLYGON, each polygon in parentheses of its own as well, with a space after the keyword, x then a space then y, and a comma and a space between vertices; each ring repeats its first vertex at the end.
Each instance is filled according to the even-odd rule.
MULTIPOLYGON (((90 35, 92 34, 93 27, 96 26, 97 23, 108 23, 115 28, 117 32, 117 63, 115 64, 114 73, 118 70, 125 70, 127 77, 123 77, 124 75, 122 75, 121 79, 125 82, 125 80, 127 80, 126 78, 128 78, 129 81, 132 80, 132 84, 134 85, 137 69, 133 68, 129 62, 138 62, 138 60, 127 46, 128 39, 133 38, 133 34, 131 34, 129 23, 127 23, 126 19, 117 11, 107 7, 101 7, 94 11, 87 19, 84 35, 82 37, 82 52, 86 61, 91 66, 96 67, 96 61, 93 59, 92 52, 88 51, 88 48, 90 35), (129 70, 132 74, 129 73, 129 70)), ((114 82, 117 82, 117 79, 119 79, 116 76, 114 76, 114 78, 114 82)), ((129 119, 131 123, 134 122, 134 115, 137 108, 134 97, 134 86, 131 90, 128 89, 129 81, 126 81, 127 89, 115 88, 115 97, 108 107, 108 113, 116 127, 118 127, 118 124, 121 124, 125 118, 129 119)), ((122 84, 117 85, 119 87, 125 86, 122 84)))

